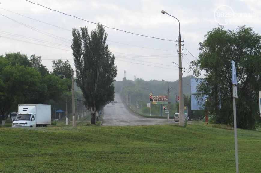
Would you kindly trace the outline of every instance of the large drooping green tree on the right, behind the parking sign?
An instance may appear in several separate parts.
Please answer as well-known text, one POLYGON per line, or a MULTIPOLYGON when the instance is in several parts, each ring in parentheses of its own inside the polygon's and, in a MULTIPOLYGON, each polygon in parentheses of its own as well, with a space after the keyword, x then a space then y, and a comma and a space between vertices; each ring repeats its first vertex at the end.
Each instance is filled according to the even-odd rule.
POLYGON ((194 76, 203 76, 198 86, 201 95, 208 95, 205 110, 216 123, 232 123, 231 60, 236 62, 238 80, 237 126, 254 129, 258 118, 258 90, 261 84, 261 37, 252 28, 236 31, 214 28, 199 43, 199 60, 190 64, 194 76), (201 75, 201 72, 203 74, 201 75))

